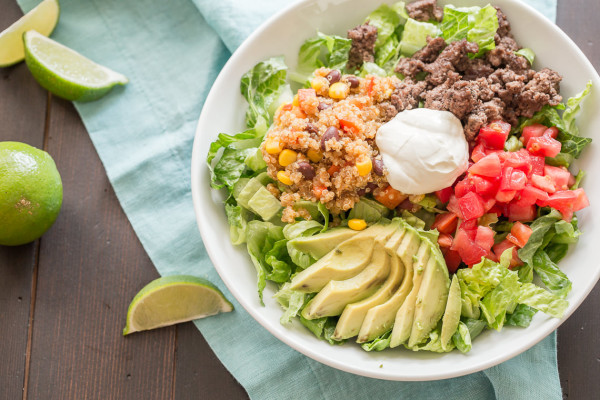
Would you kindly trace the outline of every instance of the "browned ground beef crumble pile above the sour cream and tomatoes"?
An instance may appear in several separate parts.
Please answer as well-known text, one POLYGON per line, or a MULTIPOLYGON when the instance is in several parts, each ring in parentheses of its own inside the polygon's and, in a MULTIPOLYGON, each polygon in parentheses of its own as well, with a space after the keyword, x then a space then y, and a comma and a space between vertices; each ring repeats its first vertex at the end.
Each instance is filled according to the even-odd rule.
MULTIPOLYGON (((425 1, 413 3, 417 4, 425 1)), ((562 101, 562 77, 547 68, 535 71, 525 57, 515 54, 520 47, 510 32, 510 23, 499 8, 496 10, 496 48, 484 57, 470 58, 469 54, 479 49, 464 39, 446 45, 442 38, 428 38, 423 49, 399 61, 396 71, 405 79, 391 97, 398 112, 418 107, 421 101, 426 108, 450 111, 463 123, 467 139, 473 140, 490 121, 516 124, 518 117, 530 118, 544 105, 562 101), (427 75, 419 80, 423 72, 427 75)))

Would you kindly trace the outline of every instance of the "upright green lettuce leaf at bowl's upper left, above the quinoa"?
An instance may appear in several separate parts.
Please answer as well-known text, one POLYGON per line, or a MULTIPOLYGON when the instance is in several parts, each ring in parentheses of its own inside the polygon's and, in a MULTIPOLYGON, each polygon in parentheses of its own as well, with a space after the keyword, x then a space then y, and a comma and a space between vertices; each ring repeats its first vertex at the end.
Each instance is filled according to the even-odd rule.
POLYGON ((256 64, 242 75, 240 90, 248 101, 246 125, 252 128, 262 119, 270 124, 271 104, 277 100, 286 86, 287 66, 283 57, 272 57, 256 64))

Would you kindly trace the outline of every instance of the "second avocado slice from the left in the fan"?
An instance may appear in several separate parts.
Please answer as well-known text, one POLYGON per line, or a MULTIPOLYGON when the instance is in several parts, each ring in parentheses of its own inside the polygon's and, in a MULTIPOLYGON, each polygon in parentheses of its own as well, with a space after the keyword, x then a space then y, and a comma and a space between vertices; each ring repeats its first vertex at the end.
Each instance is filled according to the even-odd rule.
POLYGON ((373 254, 375 238, 391 236, 391 224, 375 224, 340 243, 316 263, 300 272, 290 282, 292 290, 318 292, 330 281, 343 281, 364 270, 373 254))

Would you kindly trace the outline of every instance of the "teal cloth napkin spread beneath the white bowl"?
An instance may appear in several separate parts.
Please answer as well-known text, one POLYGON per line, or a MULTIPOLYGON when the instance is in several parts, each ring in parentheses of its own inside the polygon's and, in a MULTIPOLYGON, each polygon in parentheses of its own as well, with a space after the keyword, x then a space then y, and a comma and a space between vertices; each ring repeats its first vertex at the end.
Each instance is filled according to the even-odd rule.
MULTIPOLYGON (((18 1, 27 11, 39 0, 18 1)), ((554 20, 556 0, 528 2, 554 20)), ((131 81, 100 101, 75 106, 158 271, 204 276, 232 300, 196 227, 189 171, 192 142, 204 99, 231 52, 288 3, 61 0, 60 23, 52 35, 131 81)), ((555 334, 479 373, 435 382, 389 382, 313 361, 235 306, 235 312, 196 325, 253 399, 562 398, 555 334)))

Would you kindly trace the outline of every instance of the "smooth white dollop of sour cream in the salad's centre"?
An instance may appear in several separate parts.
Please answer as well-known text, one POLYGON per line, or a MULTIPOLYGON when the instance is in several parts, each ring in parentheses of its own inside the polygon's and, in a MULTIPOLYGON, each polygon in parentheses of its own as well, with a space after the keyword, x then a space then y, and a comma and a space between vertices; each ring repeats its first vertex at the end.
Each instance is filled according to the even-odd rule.
POLYGON ((454 183, 468 167, 469 144, 449 111, 416 108, 398 113, 377 131, 387 180, 404 194, 424 194, 454 183))

